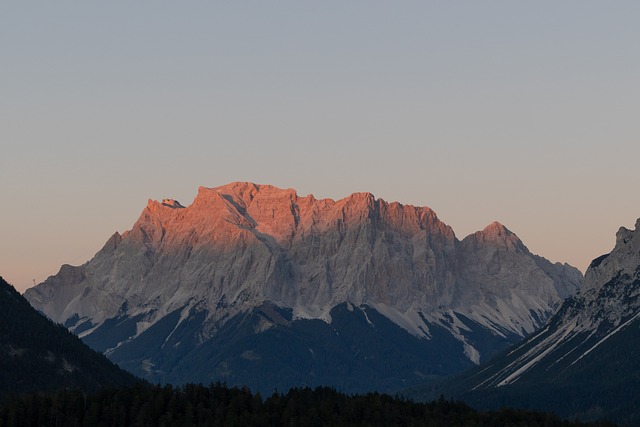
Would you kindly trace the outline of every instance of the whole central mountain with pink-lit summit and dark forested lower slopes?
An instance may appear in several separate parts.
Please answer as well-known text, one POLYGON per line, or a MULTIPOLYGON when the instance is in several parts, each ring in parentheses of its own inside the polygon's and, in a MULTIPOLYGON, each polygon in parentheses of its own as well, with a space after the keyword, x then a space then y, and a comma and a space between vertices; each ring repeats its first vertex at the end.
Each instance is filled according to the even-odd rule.
POLYGON ((460 241, 427 207, 232 183, 150 200, 25 297, 152 380, 388 390, 534 332, 581 280, 499 223, 460 241))

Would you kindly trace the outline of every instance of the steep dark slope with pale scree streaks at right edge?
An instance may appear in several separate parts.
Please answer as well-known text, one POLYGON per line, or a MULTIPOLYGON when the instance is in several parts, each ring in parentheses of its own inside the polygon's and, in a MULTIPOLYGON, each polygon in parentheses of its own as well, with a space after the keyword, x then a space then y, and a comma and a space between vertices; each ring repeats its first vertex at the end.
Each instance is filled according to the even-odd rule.
POLYGON ((640 219, 620 228, 613 251, 593 260, 583 288, 540 331, 423 396, 639 425, 639 353, 640 219))

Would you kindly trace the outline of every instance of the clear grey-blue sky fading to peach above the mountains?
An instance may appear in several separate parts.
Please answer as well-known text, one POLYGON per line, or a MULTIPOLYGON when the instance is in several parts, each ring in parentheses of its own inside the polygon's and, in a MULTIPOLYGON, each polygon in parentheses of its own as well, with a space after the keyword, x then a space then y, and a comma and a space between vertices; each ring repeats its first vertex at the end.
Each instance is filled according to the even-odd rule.
POLYGON ((640 217, 640 2, 0 4, 0 275, 253 181, 494 220, 584 270, 640 217))

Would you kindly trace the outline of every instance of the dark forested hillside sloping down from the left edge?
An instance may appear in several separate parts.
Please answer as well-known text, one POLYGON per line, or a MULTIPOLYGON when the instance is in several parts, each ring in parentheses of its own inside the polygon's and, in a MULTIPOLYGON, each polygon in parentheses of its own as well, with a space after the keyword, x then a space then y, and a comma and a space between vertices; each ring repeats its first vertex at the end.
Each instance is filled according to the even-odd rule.
POLYGON ((34 310, 0 277, 0 400, 23 392, 95 390, 136 381, 34 310))

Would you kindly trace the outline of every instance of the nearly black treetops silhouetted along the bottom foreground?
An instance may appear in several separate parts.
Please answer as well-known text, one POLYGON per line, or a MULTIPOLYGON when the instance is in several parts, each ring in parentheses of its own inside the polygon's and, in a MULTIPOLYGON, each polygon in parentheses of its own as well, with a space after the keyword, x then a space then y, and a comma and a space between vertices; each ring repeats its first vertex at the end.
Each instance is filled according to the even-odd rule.
POLYGON ((63 390, 13 396, 0 405, 0 426, 611 426, 552 414, 502 409, 479 412, 441 397, 416 403, 379 393, 294 388, 263 399, 248 388, 137 384, 85 394, 63 390))

